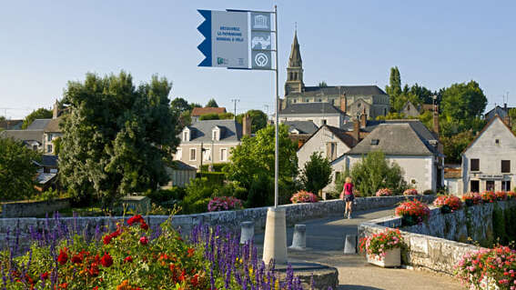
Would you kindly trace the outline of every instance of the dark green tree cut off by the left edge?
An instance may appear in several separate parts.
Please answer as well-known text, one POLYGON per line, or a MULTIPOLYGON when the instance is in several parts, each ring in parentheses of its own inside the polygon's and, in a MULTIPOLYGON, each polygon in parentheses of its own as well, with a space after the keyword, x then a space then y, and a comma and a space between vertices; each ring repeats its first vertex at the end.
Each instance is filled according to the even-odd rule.
POLYGON ((0 201, 20 200, 34 193, 36 166, 41 155, 22 142, 0 138, 0 201))

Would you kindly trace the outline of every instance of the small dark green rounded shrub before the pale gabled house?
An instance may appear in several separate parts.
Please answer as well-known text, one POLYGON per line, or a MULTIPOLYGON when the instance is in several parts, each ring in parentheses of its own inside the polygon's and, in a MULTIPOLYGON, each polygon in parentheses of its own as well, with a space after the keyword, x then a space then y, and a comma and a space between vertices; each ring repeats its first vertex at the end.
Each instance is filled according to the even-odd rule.
POLYGON ((329 160, 323 157, 320 152, 312 153, 309 161, 301 170, 300 179, 306 191, 317 195, 319 190, 331 181, 329 160))

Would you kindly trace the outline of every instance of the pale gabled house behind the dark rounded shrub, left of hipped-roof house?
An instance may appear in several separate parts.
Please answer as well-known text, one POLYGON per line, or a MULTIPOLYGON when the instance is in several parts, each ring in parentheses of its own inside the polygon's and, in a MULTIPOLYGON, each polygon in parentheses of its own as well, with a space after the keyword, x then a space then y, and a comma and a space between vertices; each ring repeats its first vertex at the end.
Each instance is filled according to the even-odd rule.
POLYGON ((355 140, 345 131, 331 125, 322 125, 309 137, 298 149, 298 167, 302 169, 310 160, 314 152, 322 153, 322 156, 333 161, 338 156, 347 153, 354 145, 355 140))

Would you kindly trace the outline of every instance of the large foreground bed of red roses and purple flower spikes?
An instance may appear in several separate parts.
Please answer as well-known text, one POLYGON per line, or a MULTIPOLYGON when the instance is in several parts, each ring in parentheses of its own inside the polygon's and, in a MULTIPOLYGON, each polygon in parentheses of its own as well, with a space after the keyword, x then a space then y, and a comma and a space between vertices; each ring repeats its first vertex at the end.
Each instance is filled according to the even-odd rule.
POLYGON ((167 220, 149 228, 141 215, 110 233, 77 235, 73 229, 35 234, 25 255, 0 252, 0 285, 6 289, 302 289, 288 267, 280 282, 257 248, 239 245, 219 227, 197 225, 184 240, 167 220))

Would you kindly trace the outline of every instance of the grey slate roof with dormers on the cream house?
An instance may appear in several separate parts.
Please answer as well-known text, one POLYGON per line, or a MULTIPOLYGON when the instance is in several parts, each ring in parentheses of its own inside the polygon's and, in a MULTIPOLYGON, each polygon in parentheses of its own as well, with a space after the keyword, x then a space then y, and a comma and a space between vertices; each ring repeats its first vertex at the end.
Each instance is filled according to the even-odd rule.
MULTIPOLYGON (((235 120, 203 120, 187 126, 190 129, 190 141, 181 141, 183 144, 206 142, 211 143, 211 130, 218 126, 220 130, 220 140, 215 143, 234 143, 240 142, 242 138, 242 125, 235 120)), ((181 137, 181 135, 178 135, 181 137)))

